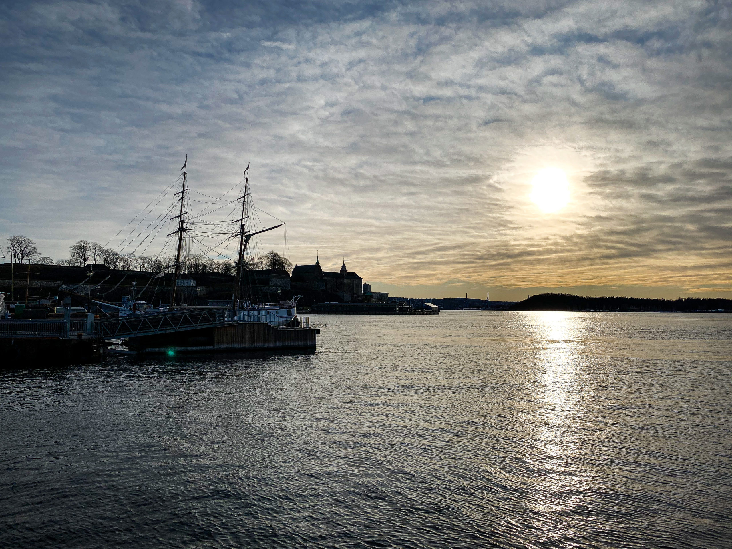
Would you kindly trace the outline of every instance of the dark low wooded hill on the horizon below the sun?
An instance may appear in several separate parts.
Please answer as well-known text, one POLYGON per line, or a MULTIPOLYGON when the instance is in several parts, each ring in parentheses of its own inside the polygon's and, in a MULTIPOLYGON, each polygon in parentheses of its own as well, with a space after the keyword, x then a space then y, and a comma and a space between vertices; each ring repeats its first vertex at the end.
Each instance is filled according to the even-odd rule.
POLYGON ((698 297, 645 299, 548 293, 529 296, 529 298, 507 307, 507 310, 732 311, 732 299, 701 299, 698 297))

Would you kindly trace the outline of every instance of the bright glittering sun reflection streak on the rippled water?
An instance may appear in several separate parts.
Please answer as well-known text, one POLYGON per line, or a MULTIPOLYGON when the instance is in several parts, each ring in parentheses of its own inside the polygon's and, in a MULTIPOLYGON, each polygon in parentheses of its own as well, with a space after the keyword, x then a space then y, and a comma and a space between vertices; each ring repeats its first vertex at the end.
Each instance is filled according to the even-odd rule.
POLYGON ((534 526, 552 532, 575 529, 561 519, 586 503, 592 475, 582 466, 584 418, 591 396, 586 367, 586 318, 572 313, 537 313, 533 426, 526 460, 533 474, 534 526))

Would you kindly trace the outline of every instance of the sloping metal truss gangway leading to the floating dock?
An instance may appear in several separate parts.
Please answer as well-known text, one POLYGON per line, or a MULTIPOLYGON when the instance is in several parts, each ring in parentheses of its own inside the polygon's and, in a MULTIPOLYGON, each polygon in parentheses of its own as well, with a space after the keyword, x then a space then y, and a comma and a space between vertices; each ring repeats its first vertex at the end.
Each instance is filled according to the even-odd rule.
POLYGON ((167 334, 225 324, 223 309, 173 311, 157 315, 130 315, 94 323, 102 340, 167 334))

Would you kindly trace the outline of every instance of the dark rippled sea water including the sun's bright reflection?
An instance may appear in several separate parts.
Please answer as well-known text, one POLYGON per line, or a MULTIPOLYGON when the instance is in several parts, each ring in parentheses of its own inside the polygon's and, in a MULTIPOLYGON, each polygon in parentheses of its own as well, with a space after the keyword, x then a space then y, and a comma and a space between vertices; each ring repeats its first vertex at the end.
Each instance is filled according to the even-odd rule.
POLYGON ((7 548, 732 545, 732 315, 313 315, 0 371, 7 548))

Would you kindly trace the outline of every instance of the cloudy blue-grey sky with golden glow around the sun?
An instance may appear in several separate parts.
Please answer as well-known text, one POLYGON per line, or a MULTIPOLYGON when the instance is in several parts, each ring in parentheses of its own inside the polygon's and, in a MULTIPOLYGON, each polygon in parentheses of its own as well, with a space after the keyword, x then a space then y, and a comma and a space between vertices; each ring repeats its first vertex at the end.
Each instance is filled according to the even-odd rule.
POLYGON ((187 154, 392 295, 732 297, 730 1, 23 0, 0 36, 2 242, 104 244, 187 154))

